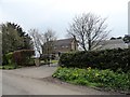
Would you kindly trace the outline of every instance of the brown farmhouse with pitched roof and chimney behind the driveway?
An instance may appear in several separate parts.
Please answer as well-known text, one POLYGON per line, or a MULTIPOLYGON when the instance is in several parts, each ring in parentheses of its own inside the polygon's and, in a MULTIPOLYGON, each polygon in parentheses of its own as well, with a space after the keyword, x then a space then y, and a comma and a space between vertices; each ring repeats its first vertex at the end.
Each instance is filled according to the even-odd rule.
POLYGON ((53 42, 44 43, 42 51, 43 54, 58 54, 78 51, 78 43, 73 38, 55 40, 53 42))

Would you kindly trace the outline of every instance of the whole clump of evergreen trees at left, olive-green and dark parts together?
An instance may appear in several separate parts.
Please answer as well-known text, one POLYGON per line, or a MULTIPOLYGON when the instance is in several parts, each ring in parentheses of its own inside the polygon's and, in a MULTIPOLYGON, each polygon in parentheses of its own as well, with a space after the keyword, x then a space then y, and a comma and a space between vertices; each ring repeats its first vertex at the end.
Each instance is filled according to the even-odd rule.
POLYGON ((22 48, 31 48, 30 37, 15 24, 6 23, 1 25, 2 31, 2 54, 8 54, 22 48))

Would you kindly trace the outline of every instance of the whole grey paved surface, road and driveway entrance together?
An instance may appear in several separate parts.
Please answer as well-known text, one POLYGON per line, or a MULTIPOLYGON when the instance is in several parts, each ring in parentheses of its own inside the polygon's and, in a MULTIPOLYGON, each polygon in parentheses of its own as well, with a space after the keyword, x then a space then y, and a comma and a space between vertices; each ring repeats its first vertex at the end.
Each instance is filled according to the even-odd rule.
POLYGON ((49 80, 56 65, 2 71, 3 95, 118 95, 49 80))

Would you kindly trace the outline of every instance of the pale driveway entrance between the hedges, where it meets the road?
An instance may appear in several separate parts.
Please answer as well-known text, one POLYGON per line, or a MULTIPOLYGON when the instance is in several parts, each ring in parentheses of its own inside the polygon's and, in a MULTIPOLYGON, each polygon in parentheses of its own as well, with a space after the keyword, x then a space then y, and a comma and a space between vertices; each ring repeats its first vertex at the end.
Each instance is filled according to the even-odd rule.
POLYGON ((28 77, 28 78, 47 78, 51 77, 52 73, 56 70, 57 65, 51 65, 50 67, 48 65, 40 66, 40 67, 26 67, 26 68, 20 68, 14 70, 3 70, 3 72, 11 73, 11 74, 17 74, 21 77, 28 77))

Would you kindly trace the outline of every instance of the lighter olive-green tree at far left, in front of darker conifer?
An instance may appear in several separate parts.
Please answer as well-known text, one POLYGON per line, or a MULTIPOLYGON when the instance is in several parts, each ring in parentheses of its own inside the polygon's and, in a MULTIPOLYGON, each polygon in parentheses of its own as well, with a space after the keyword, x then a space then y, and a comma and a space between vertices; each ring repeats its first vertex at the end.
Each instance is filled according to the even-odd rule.
POLYGON ((8 54, 23 46, 23 38, 21 38, 11 25, 2 25, 2 53, 8 54))

